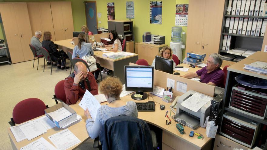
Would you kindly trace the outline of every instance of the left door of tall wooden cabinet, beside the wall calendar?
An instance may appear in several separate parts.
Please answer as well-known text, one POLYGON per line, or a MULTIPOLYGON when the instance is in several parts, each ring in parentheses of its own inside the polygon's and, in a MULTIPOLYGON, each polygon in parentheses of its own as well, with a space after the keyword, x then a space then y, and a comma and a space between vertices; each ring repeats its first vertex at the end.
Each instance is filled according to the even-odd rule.
MULTIPOLYGON (((200 0, 190 0, 188 10, 188 25, 186 52, 201 51, 205 3, 200 0)), ((222 19, 222 18, 221 18, 222 19)))

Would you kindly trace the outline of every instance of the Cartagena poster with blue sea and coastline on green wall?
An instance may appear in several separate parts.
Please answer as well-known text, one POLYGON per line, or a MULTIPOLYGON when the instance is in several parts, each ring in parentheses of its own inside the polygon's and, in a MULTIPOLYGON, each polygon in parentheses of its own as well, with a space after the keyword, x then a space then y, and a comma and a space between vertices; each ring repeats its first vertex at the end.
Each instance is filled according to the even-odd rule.
POLYGON ((162 1, 150 1, 150 23, 162 24, 162 1))

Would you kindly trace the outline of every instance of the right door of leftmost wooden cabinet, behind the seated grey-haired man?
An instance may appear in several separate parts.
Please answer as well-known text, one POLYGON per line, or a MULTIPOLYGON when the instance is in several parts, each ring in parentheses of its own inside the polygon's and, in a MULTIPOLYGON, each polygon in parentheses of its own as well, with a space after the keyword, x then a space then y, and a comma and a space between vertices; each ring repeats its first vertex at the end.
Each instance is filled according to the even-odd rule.
POLYGON ((21 47, 24 55, 24 61, 32 60, 32 51, 29 48, 29 43, 32 38, 32 29, 29 19, 29 13, 26 3, 14 3, 16 20, 19 28, 19 36, 21 47))

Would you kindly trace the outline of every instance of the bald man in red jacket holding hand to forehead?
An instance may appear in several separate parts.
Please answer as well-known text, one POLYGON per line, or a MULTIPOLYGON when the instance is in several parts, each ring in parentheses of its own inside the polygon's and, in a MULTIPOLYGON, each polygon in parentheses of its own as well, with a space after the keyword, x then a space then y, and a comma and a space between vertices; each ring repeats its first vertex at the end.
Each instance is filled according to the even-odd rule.
POLYGON ((86 89, 93 95, 98 94, 98 86, 93 74, 87 71, 82 62, 77 62, 73 73, 65 78, 66 103, 68 105, 76 104, 78 100, 83 98, 86 89))

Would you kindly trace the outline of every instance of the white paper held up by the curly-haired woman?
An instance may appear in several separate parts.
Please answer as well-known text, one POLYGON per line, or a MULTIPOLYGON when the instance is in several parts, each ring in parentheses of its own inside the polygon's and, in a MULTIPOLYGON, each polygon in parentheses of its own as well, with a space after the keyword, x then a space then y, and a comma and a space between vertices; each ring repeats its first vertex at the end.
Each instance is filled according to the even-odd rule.
POLYGON ((97 109, 100 108, 100 103, 96 100, 96 98, 88 91, 83 95, 83 98, 81 102, 79 103, 79 106, 86 110, 88 108, 88 111, 92 117, 93 120, 96 119, 97 109))

